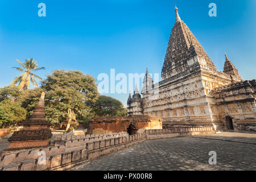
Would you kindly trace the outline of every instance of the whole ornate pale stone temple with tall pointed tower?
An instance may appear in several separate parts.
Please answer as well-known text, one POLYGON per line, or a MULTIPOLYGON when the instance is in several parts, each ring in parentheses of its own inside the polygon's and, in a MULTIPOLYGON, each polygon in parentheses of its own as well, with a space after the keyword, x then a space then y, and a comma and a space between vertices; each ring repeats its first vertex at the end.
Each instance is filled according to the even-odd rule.
POLYGON ((129 96, 128 115, 156 115, 166 128, 210 125, 215 130, 256 131, 255 80, 243 81, 226 54, 224 71, 217 71, 177 7, 175 13, 162 81, 154 84, 147 70, 142 97, 137 88, 129 96))

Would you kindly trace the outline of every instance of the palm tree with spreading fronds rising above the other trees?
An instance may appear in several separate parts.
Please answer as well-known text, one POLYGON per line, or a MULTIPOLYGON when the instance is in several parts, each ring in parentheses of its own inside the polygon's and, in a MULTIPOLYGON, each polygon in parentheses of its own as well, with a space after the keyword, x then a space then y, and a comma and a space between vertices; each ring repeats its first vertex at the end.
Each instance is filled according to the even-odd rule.
MULTIPOLYGON (((25 57, 26 59, 26 57, 25 57)), ((16 59, 16 61, 22 66, 22 68, 19 67, 10 67, 15 68, 18 71, 24 72, 22 75, 14 78, 13 82, 11 83, 11 86, 18 84, 19 91, 23 92, 24 90, 30 88, 30 81, 32 82, 33 86, 38 86, 38 83, 36 82, 36 78, 39 80, 42 80, 42 78, 38 75, 35 75, 34 73, 31 73, 32 71, 38 71, 41 69, 46 69, 44 67, 38 68, 38 64, 36 64, 37 61, 34 61, 34 59, 26 59, 24 63, 20 62, 16 59)))

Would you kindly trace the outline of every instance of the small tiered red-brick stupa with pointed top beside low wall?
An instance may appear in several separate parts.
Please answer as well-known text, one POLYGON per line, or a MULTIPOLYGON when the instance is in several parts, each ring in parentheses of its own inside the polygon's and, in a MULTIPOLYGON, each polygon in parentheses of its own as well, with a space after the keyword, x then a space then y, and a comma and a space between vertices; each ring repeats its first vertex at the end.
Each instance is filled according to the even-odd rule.
POLYGON ((38 105, 35 106, 30 119, 22 122, 21 125, 23 125, 23 129, 15 131, 8 139, 9 147, 2 152, 2 155, 11 151, 47 147, 49 145, 52 133, 50 130, 51 123, 46 121, 44 92, 41 94, 38 105))

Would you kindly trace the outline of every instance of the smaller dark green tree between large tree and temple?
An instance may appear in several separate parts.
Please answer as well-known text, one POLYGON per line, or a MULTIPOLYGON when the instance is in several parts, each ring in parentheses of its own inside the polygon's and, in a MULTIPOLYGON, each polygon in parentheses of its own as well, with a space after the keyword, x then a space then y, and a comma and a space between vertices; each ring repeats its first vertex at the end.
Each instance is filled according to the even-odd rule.
POLYGON ((109 96, 100 96, 93 110, 97 116, 122 117, 127 113, 122 102, 109 96))

